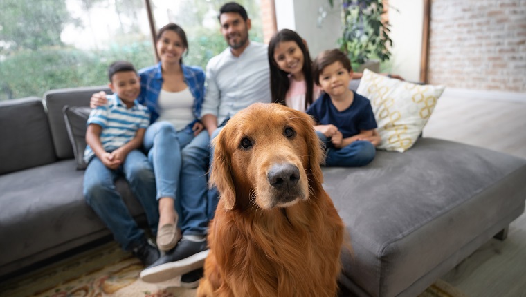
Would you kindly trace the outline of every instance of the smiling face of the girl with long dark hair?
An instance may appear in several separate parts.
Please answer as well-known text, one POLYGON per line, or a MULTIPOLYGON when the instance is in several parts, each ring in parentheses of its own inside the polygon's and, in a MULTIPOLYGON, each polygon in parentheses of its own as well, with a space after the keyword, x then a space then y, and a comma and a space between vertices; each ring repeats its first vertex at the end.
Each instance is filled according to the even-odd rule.
POLYGON ((274 61, 278 68, 291 73, 296 79, 303 79, 303 53, 296 41, 282 41, 274 48, 274 61))

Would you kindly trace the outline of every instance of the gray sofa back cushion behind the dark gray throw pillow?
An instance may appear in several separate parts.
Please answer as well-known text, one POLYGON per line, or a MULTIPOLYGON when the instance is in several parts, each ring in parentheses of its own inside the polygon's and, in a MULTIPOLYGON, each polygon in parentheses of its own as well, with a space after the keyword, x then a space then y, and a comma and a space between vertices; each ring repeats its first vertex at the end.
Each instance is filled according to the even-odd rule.
POLYGON ((62 115, 62 108, 64 108, 64 105, 89 106, 89 98, 91 98, 91 95, 100 90, 111 93, 111 90, 109 90, 107 86, 91 86, 86 88, 50 90, 44 94, 44 102, 46 103, 49 126, 51 128, 51 137, 53 137, 55 152, 59 159, 71 159, 75 156, 66 132, 66 123, 62 115))

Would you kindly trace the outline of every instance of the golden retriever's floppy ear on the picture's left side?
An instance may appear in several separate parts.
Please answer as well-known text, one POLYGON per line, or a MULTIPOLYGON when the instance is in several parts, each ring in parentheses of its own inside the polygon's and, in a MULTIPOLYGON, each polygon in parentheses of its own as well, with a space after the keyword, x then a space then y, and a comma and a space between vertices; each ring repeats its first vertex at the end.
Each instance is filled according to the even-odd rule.
POLYGON ((219 135, 212 140, 214 146, 214 159, 212 160, 212 173, 210 175, 210 187, 217 186, 220 199, 223 200, 226 210, 235 207, 235 188, 232 179, 232 167, 226 140, 228 130, 223 128, 219 135))

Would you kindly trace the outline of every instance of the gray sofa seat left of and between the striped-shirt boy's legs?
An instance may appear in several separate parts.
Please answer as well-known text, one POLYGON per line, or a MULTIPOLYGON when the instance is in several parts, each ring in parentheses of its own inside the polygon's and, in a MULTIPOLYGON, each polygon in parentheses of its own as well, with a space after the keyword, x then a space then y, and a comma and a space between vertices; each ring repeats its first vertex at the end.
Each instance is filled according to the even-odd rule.
MULTIPOLYGON (((71 159, 0 176, 0 267, 37 253, 54 256, 46 251, 93 233, 110 234, 85 202, 84 171, 75 168, 71 159)), ((131 214, 143 213, 125 180, 116 186, 131 214)))

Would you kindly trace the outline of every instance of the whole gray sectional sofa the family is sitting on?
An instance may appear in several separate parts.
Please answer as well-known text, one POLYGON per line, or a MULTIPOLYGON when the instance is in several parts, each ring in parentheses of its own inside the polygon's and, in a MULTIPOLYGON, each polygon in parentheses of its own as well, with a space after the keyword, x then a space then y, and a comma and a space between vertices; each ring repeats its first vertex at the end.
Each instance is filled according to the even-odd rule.
MULTIPOLYGON (((94 88, 0 102, 0 277, 109 236, 82 197, 62 108, 94 88)), ((524 211, 526 160, 422 137, 362 168, 324 168, 350 232, 341 285, 352 296, 417 296, 524 211)), ((140 206, 118 189, 131 212, 140 206)))

